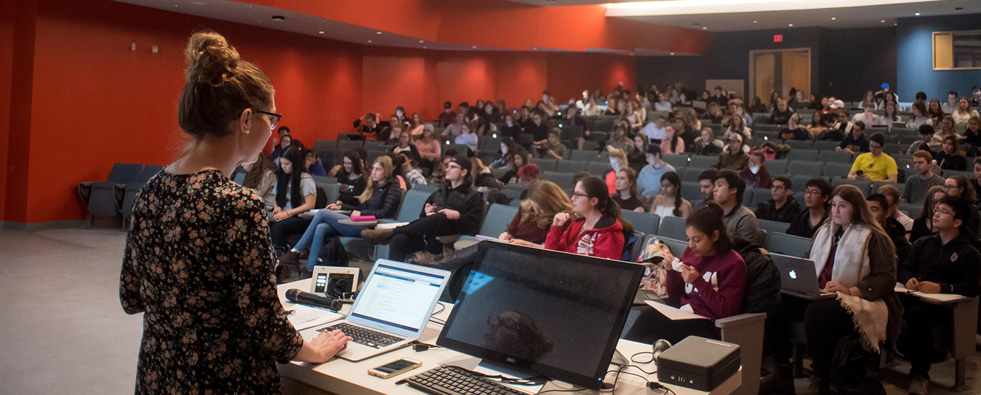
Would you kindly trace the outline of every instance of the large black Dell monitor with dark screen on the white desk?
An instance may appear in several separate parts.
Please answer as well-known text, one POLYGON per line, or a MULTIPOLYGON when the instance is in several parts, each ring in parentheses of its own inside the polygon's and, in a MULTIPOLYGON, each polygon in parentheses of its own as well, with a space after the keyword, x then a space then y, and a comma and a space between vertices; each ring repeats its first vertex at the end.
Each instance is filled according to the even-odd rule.
POLYGON ((638 264, 483 241, 437 344, 599 389, 643 275, 638 264))

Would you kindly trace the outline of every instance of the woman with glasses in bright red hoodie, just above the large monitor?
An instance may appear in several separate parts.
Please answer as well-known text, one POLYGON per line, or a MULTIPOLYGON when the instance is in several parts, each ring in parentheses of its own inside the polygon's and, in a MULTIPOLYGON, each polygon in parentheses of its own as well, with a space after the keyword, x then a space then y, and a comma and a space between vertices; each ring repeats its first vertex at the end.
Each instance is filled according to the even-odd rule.
POLYGON ((606 183, 587 177, 576 183, 572 210, 555 214, 545 238, 545 248, 597 258, 620 259, 627 235, 634 228, 620 217, 620 206, 607 194, 606 183))

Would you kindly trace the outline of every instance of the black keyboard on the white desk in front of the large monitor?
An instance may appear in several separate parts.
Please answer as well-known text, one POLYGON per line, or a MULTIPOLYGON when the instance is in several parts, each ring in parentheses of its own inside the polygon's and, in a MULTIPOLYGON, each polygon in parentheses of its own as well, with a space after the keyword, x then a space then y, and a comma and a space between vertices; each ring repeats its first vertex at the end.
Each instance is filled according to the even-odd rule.
POLYGON ((441 365, 405 379, 412 388, 433 395, 528 395, 460 367, 441 365))

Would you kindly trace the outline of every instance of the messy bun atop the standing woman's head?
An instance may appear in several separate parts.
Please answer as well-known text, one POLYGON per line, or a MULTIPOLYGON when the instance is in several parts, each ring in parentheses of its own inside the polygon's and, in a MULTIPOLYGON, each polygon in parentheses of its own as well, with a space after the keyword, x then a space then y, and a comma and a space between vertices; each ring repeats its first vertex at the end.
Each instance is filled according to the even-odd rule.
POLYGON ((221 86, 238 66, 238 51, 214 31, 194 33, 184 50, 187 82, 221 86))

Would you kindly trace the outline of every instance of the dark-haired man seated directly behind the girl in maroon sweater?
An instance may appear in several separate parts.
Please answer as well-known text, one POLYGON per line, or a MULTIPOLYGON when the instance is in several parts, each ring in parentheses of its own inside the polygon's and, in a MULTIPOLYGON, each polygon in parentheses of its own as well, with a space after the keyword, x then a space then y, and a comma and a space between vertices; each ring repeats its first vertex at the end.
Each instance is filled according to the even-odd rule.
POLYGON ((756 214, 743 205, 743 194, 746 192, 746 182, 733 171, 721 171, 713 181, 715 188, 712 197, 722 207, 722 221, 733 238, 756 240, 759 222, 756 214))

